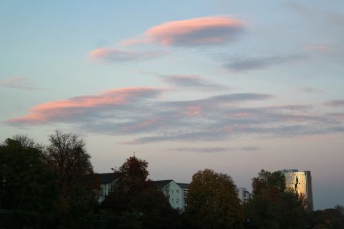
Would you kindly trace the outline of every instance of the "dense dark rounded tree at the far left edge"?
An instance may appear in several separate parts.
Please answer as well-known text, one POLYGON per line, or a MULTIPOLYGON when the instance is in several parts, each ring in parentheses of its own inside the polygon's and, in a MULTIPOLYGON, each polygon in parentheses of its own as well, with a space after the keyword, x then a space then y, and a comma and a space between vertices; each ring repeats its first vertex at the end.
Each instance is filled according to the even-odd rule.
POLYGON ((0 145, 0 208, 52 212, 58 200, 56 173, 27 140, 8 138, 0 145))

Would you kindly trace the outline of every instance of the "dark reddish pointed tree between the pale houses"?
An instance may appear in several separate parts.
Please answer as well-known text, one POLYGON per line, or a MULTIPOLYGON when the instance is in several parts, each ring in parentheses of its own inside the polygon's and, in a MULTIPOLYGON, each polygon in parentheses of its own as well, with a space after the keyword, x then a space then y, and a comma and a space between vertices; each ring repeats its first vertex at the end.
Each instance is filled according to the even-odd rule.
POLYGON ((129 157, 114 169, 116 187, 100 205, 105 225, 116 228, 177 228, 178 210, 147 179, 148 162, 129 157))

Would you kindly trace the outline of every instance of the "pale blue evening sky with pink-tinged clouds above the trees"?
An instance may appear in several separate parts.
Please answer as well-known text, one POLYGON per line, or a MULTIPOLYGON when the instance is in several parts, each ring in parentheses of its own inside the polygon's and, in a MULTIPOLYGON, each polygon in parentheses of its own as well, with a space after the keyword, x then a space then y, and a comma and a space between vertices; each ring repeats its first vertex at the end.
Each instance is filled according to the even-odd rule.
POLYGON ((85 139, 94 171, 311 171, 344 205, 344 2, 1 1, 0 140, 85 139))

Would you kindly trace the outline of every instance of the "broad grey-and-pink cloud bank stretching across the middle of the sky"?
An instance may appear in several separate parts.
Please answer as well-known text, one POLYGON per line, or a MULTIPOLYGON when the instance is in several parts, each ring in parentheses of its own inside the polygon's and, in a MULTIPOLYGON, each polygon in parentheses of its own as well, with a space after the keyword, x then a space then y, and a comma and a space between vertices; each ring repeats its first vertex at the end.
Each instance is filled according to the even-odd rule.
MULTIPOLYGON (((317 107, 321 104, 266 106, 264 103, 274 96, 255 93, 164 100, 161 96, 166 91, 129 87, 46 102, 32 107, 25 116, 8 120, 8 124, 73 124, 74 129, 84 133, 119 135, 125 144, 215 142, 249 135, 297 138, 344 132, 343 113, 323 113, 323 107, 317 107)), ((344 102, 332 100, 325 105, 344 106, 344 102)))

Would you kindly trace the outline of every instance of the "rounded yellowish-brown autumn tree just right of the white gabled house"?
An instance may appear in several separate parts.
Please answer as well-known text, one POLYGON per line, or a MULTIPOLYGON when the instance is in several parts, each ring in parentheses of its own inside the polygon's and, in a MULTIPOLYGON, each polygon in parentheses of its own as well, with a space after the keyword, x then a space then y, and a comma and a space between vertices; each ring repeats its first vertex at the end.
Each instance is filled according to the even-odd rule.
POLYGON ((192 177, 186 217, 193 228, 242 228, 244 212, 233 179, 210 169, 192 177))

